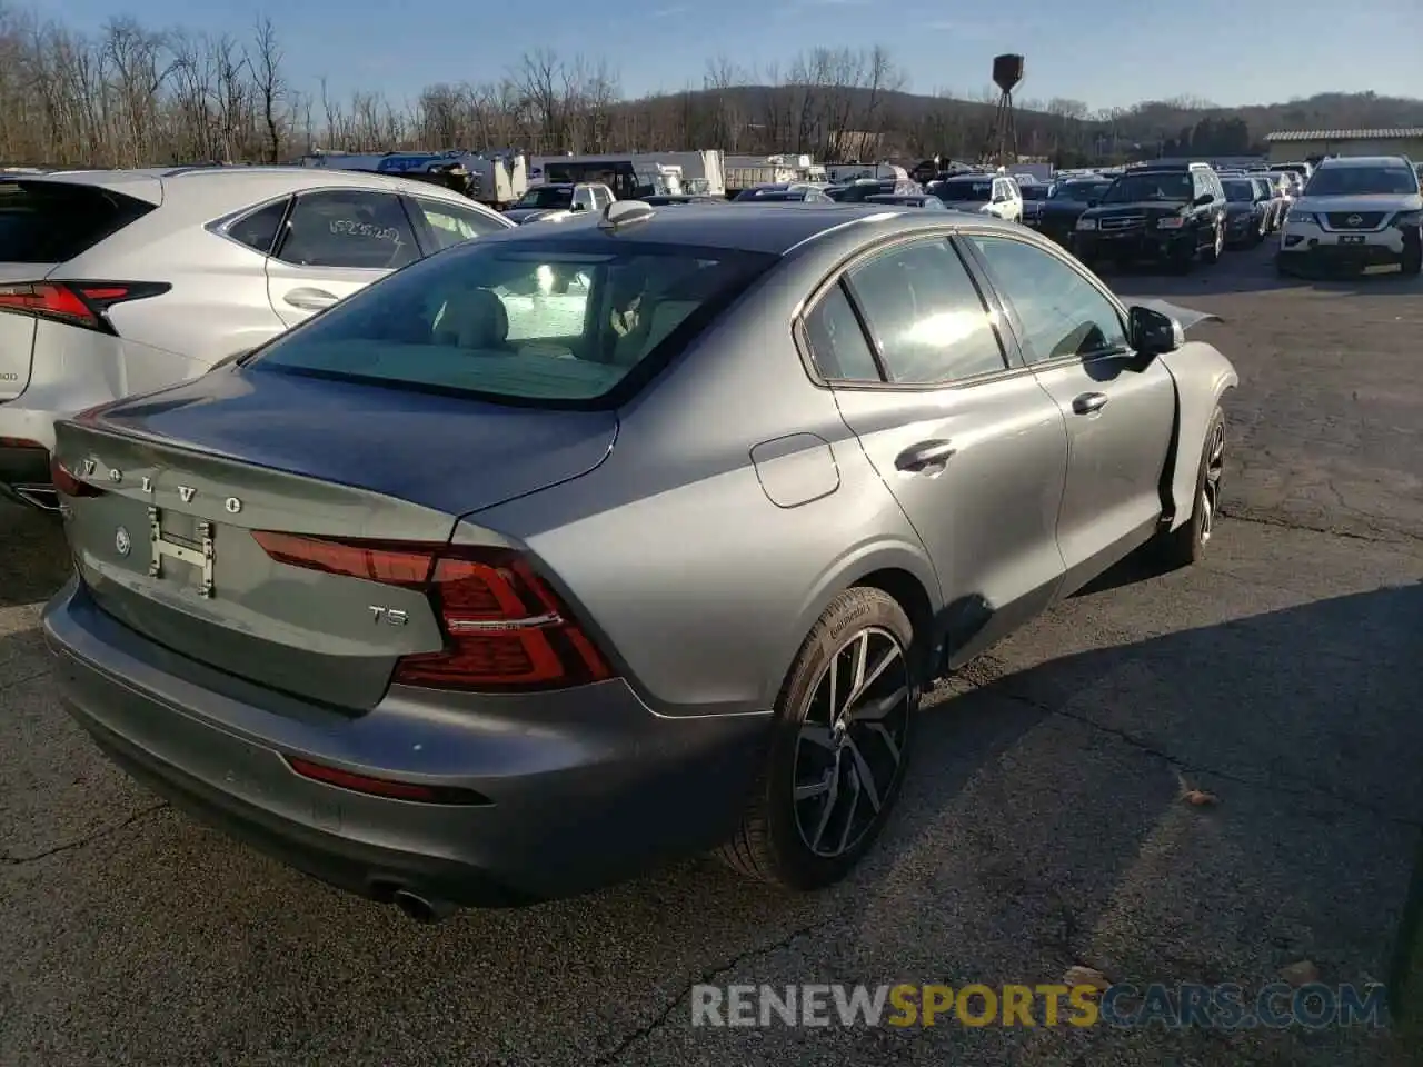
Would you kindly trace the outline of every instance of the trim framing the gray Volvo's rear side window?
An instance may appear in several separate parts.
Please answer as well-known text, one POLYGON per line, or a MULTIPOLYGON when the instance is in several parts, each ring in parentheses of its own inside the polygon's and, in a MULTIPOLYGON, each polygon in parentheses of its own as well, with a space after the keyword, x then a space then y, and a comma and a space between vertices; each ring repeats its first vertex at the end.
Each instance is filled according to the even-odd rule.
POLYGON ((801 367, 805 370, 805 376, 810 383, 817 388, 824 388, 830 391, 881 391, 881 393, 939 393, 943 390, 959 390, 972 388, 975 386, 982 386, 989 381, 999 381, 1003 378, 1019 377, 1025 373, 1032 373, 1023 360, 1022 350, 1017 344, 1017 337, 1010 329, 1005 329, 1005 307, 998 299, 998 294, 992 289, 986 289, 978 276, 973 265, 968 262, 963 252, 955 246, 953 238, 956 236, 958 221, 952 223, 946 219, 935 219, 936 225, 932 229, 919 229, 909 233, 894 233, 884 240, 875 242, 874 245, 855 249, 850 256, 842 259, 815 285, 810 296, 801 303, 800 310, 791 319, 791 339, 795 343, 795 350, 801 357, 801 367), (948 223, 948 225, 945 225, 948 223), (889 381, 885 374, 884 356, 879 351, 879 346, 875 343, 872 330, 869 329, 869 320, 864 314, 864 309, 859 304, 859 297, 855 294, 854 285, 850 283, 850 273, 871 259, 878 259, 888 250, 904 245, 914 245, 929 240, 942 240, 948 243, 949 250, 955 253, 963 272, 969 277, 969 283, 973 286, 975 292, 979 294, 979 300, 983 302, 985 314, 989 316, 989 324, 998 337, 999 353, 1003 357, 1003 370, 983 371, 982 374, 973 374, 965 378, 958 378, 955 381, 889 381), (807 317, 820 307, 820 302, 834 290, 835 287, 842 287, 847 299, 850 300, 850 307, 855 313, 855 319, 859 323, 859 330, 864 334, 865 344, 875 360, 875 367, 879 368, 879 381, 862 381, 859 378, 827 378, 820 366, 815 363, 815 351, 810 343, 810 329, 805 324, 807 317))

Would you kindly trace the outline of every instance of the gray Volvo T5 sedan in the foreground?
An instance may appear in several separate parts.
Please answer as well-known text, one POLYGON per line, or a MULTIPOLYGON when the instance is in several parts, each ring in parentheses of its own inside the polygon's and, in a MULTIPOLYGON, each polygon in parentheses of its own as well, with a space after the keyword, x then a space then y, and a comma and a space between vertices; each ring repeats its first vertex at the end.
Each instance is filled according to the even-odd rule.
POLYGON ((179 807, 424 920, 707 849, 825 886, 932 677, 1204 551, 1237 374, 1177 310, 899 206, 453 248, 57 427, 63 697, 179 807))

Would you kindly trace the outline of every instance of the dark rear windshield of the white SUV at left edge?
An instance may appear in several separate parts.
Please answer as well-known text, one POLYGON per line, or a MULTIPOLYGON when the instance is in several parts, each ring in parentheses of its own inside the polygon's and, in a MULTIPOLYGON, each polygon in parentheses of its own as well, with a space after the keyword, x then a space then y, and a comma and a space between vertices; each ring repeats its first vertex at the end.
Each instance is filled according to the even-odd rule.
POLYGON ((152 209, 92 185, 0 182, 0 263, 64 263, 152 209))

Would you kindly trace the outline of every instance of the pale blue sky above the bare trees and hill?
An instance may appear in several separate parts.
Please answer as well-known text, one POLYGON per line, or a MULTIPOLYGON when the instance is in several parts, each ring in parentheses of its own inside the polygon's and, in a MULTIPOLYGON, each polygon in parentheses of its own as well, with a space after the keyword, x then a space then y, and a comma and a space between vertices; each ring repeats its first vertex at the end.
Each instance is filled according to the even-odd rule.
POLYGON ((266 11, 295 87, 326 75, 337 92, 380 90, 397 101, 435 81, 495 80, 541 47, 606 60, 635 95, 700 87, 716 55, 764 68, 817 46, 868 44, 889 48, 916 92, 975 95, 992 57, 1019 51, 1022 98, 1093 108, 1335 90, 1423 97, 1423 0, 38 0, 38 10, 83 30, 124 11, 149 27, 236 34, 266 11))

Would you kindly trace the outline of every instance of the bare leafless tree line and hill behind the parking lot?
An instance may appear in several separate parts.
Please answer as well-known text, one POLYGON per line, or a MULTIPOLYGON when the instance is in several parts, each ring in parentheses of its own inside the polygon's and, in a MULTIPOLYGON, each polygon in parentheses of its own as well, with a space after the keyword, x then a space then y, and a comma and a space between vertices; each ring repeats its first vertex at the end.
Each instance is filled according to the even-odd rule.
MULTIPOLYGON (((996 90, 915 95, 906 87, 884 47, 821 47, 763 70, 713 60, 697 87, 626 100, 606 63, 534 51, 498 80, 434 84, 406 105, 376 90, 337 97, 324 80, 299 88, 265 17, 242 37, 152 30, 128 17, 83 34, 0 0, 0 165, 10 166, 283 162, 316 149, 723 148, 868 161, 968 159, 996 148, 996 90)), ((1423 125, 1420 101, 1331 100, 1353 125, 1423 125)), ((1091 111, 1067 98, 1022 100, 1016 148, 1059 165, 1167 148, 1248 151, 1281 107, 1305 115, 1312 101, 1252 114, 1204 101, 1091 111)))

